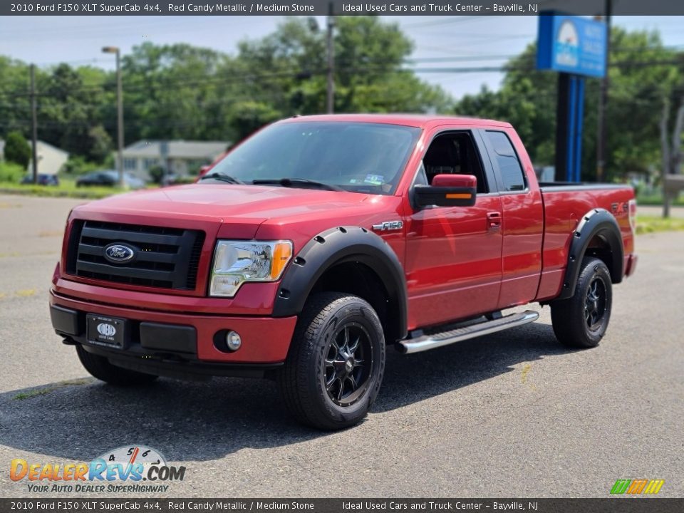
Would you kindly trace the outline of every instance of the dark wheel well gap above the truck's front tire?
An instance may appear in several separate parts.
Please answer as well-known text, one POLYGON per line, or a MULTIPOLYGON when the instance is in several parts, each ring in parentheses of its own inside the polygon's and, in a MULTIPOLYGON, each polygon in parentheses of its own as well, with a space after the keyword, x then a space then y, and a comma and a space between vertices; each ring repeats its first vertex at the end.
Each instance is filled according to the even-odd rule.
POLYGON ((344 292, 365 299, 380 318, 385 342, 394 343, 401 338, 398 318, 390 317, 390 312, 397 311, 398 305, 391 304, 383 281, 369 266, 355 261, 333 264, 316 281, 311 294, 327 291, 344 292))

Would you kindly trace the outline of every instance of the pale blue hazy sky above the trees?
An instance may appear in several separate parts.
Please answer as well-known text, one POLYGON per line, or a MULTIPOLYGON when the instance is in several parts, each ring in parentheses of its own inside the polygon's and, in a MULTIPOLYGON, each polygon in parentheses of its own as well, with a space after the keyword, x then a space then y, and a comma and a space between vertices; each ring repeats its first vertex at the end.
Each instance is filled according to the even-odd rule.
MULTIPOLYGON (((324 26, 323 16, 317 16, 324 26)), ((537 38, 536 16, 383 16, 397 22, 414 41, 412 58, 420 69, 500 66, 537 38), (430 61, 432 59, 432 61, 430 61), (435 61, 435 59, 438 59, 435 61), (448 59, 448 61, 444 61, 448 59), (422 61, 420 61, 422 60, 422 61)), ((103 46, 123 53, 144 41, 190 43, 234 53, 238 41, 265 36, 282 16, 0 16, 0 55, 41 67, 67 62, 73 66, 114 68, 103 46)), ((666 46, 684 48, 684 16, 615 16, 628 30, 658 30, 666 46)), ((420 73, 460 98, 482 85, 499 88, 499 72, 420 73)), ((0 81, 2 78, 0 77, 0 81)))

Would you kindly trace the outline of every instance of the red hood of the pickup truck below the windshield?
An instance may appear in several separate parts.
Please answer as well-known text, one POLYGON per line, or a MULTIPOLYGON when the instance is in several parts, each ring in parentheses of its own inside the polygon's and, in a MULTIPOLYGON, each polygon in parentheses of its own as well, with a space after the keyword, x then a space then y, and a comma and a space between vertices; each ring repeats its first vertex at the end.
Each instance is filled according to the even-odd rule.
POLYGON ((359 207, 368 195, 353 192, 311 190, 264 185, 181 185, 142 190, 90 202, 73 211, 73 217, 100 221, 163 224, 190 222, 234 227, 234 237, 253 238, 268 219, 287 217, 344 216, 341 209, 359 207), (147 219, 147 220, 145 220, 147 219))

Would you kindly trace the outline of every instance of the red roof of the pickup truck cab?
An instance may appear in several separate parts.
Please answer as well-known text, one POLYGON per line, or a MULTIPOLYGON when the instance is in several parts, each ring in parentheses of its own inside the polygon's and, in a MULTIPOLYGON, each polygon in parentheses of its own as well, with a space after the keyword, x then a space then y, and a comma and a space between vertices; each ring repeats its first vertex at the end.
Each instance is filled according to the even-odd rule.
POLYGON ((339 121, 346 123, 384 123, 387 125, 405 125, 418 128, 426 128, 435 125, 455 124, 475 126, 495 126, 512 128, 510 123, 504 121, 487 120, 480 118, 468 118, 466 116, 448 116, 440 114, 321 114, 294 116, 282 120, 280 123, 301 123, 304 121, 339 121))

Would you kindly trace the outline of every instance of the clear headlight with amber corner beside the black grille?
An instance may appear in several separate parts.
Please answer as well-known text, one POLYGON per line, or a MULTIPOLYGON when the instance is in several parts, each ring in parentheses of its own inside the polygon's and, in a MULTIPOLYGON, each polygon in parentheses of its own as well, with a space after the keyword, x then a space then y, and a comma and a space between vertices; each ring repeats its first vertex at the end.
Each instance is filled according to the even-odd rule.
POLYGON ((291 257, 290 241, 219 240, 209 296, 233 297, 245 281, 276 281, 291 257))

